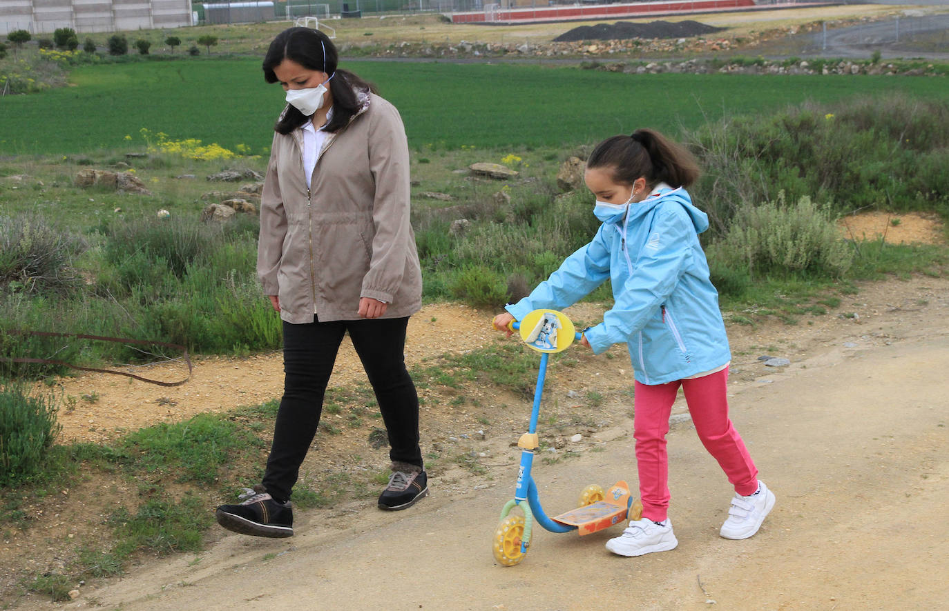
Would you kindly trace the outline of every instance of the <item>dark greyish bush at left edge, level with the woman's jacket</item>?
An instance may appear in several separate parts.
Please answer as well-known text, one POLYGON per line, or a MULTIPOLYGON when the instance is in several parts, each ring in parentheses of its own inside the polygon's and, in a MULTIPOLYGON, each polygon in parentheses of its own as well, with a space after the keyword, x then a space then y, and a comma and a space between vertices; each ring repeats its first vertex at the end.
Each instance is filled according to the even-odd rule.
POLYGON ((86 244, 38 214, 0 216, 0 291, 63 295, 77 285, 72 267, 86 244))

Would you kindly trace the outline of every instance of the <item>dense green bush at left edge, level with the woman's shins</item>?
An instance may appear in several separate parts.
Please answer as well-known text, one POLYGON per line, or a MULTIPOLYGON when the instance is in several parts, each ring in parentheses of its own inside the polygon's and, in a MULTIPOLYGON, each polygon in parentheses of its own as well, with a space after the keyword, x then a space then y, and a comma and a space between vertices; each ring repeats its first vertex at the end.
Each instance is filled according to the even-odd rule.
POLYGON ((59 431, 51 395, 12 383, 0 387, 0 486, 28 481, 38 473, 59 431))

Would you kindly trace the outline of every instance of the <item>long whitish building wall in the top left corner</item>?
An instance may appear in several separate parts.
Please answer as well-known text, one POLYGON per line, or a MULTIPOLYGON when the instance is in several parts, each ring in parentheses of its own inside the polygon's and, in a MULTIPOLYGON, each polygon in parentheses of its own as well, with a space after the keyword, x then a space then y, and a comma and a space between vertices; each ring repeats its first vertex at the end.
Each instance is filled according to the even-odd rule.
POLYGON ((0 36, 71 27, 78 33, 192 25, 191 0, 0 0, 0 36))

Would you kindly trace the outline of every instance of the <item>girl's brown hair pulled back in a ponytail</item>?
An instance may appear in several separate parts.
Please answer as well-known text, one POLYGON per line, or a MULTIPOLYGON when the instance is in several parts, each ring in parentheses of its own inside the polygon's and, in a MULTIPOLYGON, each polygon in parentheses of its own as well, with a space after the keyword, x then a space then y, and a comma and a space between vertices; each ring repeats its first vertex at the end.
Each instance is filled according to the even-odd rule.
POLYGON ((596 145, 586 160, 587 168, 612 168, 613 179, 632 185, 644 177, 649 188, 658 183, 689 187, 698 180, 698 162, 684 147, 655 130, 636 130, 632 135, 614 135, 596 145))

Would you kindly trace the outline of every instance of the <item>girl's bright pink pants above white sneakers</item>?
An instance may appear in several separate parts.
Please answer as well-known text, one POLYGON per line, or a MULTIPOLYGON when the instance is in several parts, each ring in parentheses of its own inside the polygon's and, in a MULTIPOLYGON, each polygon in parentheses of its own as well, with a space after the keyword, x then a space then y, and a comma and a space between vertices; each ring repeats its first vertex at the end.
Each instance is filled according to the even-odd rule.
POLYGON ((636 383, 633 400, 633 437, 636 439, 636 461, 640 475, 642 516, 661 522, 669 509, 669 456, 665 436, 669 432, 669 415, 676 401, 679 386, 685 393, 698 439, 716 458, 735 492, 754 494, 758 487, 758 470, 745 448, 732 421, 728 418, 725 387, 728 368, 693 380, 677 380, 649 386, 636 383))

